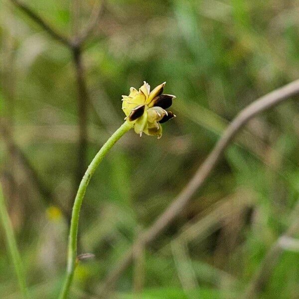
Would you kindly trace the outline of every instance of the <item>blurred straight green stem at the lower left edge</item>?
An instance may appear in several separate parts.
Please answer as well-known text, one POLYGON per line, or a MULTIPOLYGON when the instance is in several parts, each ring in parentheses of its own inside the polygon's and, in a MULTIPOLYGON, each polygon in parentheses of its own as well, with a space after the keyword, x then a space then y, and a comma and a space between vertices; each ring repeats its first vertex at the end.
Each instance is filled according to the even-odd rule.
POLYGON ((0 185, 0 216, 1 222, 4 228, 4 233, 7 242, 7 248, 11 256, 11 260, 14 266, 14 270, 18 279, 19 288, 22 292, 23 298, 29 298, 29 293, 26 286, 25 273, 23 269, 22 260, 20 254, 17 250, 15 237, 12 230, 12 225, 9 219, 9 215, 5 206, 5 200, 2 192, 2 187, 0 185))

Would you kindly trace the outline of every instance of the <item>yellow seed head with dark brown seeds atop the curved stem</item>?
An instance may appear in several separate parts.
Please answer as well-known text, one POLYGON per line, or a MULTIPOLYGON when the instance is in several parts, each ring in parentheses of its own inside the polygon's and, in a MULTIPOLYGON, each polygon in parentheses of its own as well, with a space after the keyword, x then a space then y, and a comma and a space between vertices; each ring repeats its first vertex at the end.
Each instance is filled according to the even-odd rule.
POLYGON ((122 96, 125 120, 133 123, 135 132, 140 136, 144 132, 158 136, 159 139, 162 136, 160 124, 175 117, 171 111, 165 110, 171 106, 172 99, 175 99, 173 95, 162 94, 165 83, 150 91, 149 84, 144 81, 139 91, 131 87, 129 96, 122 96))

